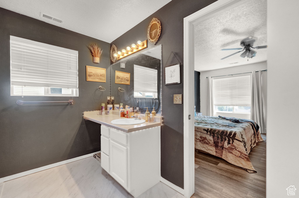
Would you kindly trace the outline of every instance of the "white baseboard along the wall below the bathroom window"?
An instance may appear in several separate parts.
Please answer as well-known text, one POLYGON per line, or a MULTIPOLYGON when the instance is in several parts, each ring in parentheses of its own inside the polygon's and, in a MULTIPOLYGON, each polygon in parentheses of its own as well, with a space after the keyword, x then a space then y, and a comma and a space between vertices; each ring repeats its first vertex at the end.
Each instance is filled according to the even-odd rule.
POLYGON ((47 170, 49 168, 54 168, 56 166, 60 166, 60 165, 63 165, 63 164, 67 164, 67 163, 70 163, 70 162, 74 162, 74 161, 77 161, 77 160, 82 160, 86 157, 91 157, 93 156, 94 154, 96 153, 100 153, 101 151, 97 151, 97 152, 94 152, 94 153, 91 153, 91 154, 87 154, 87 155, 82 155, 80 157, 75 157, 75 158, 72 158, 72 159, 69 159, 69 160, 64 160, 62 162, 57 162, 57 163, 54 163, 54 164, 50 164, 50 165, 46 165, 46 166, 42 166, 42 167, 39 167, 39 168, 34 168, 32 170, 29 170, 29 171, 25 171, 25 172, 22 172, 22 173, 18 173, 18 174, 14 174, 14 175, 10 175, 10 176, 7 176, 7 177, 2 177, 0 178, 0 183, 1 182, 6 182, 6 181, 9 181, 9 180, 13 180, 13 179, 16 179, 18 177, 23 177, 25 175, 30 175, 32 173, 37 173, 39 171, 44 171, 44 170, 47 170))

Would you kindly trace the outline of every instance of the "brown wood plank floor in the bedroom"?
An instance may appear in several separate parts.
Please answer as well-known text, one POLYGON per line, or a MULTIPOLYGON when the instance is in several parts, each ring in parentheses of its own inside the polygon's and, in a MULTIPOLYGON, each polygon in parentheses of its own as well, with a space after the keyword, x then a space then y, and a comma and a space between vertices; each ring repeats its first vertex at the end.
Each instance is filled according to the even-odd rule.
MULTIPOLYGON (((262 134, 266 140, 266 134, 262 134)), ((266 141, 257 143, 249 153, 257 173, 225 160, 195 151, 195 193, 193 198, 265 198, 266 141)))

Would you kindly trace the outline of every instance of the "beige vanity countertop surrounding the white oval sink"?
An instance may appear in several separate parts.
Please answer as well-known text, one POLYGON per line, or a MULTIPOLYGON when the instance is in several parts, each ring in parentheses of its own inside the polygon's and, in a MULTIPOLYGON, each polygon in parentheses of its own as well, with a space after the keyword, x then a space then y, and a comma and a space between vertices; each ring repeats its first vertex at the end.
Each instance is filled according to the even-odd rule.
POLYGON ((148 129, 155 126, 161 126, 161 122, 145 122, 142 124, 136 124, 136 125, 117 125, 112 124, 112 120, 116 119, 133 119, 133 118, 125 118, 125 117, 119 117, 119 115, 98 115, 98 113, 101 113, 101 111, 91 111, 91 112, 83 112, 83 118, 86 120, 91 120, 93 122, 103 124, 104 126, 108 126, 114 129, 118 129, 120 131, 129 133, 133 131, 139 131, 142 129, 148 129))

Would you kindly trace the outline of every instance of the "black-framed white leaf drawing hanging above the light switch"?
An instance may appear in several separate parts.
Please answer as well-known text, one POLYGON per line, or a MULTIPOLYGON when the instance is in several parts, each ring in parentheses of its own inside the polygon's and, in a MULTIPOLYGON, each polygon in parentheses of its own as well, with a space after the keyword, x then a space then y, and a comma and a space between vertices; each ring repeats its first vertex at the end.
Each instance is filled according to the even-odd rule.
POLYGON ((179 63, 168 65, 164 67, 164 85, 172 85, 181 83, 180 72, 181 67, 179 63))

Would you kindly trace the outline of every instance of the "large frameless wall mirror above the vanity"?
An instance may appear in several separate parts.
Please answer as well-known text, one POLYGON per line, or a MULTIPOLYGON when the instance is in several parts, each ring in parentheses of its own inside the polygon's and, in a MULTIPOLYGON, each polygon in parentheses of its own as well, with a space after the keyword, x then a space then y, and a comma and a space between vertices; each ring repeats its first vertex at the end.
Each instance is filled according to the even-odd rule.
POLYGON ((161 114, 161 50, 162 45, 158 45, 111 65, 114 105, 138 107, 141 113, 155 107, 161 114))

